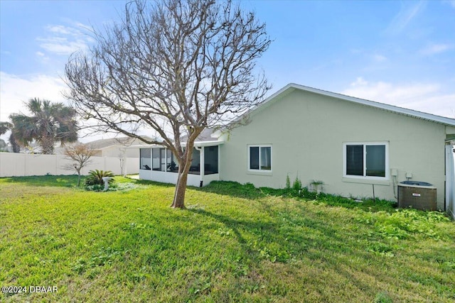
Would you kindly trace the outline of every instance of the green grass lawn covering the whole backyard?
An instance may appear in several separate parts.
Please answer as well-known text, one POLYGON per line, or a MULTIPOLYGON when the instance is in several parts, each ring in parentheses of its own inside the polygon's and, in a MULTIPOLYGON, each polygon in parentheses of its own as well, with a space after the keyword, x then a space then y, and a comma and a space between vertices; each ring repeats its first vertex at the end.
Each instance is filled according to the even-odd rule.
POLYGON ((235 182, 189 188, 116 177, 0 179, 1 302, 453 302, 443 214, 235 182))

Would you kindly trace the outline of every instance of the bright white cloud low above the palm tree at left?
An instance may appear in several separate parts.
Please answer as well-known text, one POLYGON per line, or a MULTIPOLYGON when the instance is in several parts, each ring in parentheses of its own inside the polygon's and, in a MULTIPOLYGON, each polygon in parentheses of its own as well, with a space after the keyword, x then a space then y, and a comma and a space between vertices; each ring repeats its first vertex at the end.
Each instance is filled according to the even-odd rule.
POLYGON ((14 113, 26 114, 23 102, 34 97, 64 102, 61 92, 65 87, 63 80, 58 77, 19 77, 0 72, 0 121, 8 121, 9 115, 14 113))

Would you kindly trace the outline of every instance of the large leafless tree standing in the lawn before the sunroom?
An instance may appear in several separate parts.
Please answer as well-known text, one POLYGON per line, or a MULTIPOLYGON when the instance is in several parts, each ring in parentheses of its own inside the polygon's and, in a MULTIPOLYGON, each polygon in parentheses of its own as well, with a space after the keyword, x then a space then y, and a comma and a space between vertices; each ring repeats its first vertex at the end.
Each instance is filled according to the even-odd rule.
POLYGON ((179 164, 172 206, 184 208, 198 135, 235 126, 269 89, 256 67, 271 43, 265 24, 231 0, 137 0, 122 23, 93 32, 96 46, 68 60, 65 96, 97 130, 170 149, 179 164), (161 139, 142 138, 140 127, 161 139))

